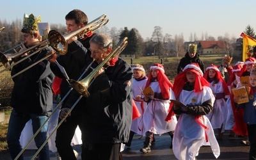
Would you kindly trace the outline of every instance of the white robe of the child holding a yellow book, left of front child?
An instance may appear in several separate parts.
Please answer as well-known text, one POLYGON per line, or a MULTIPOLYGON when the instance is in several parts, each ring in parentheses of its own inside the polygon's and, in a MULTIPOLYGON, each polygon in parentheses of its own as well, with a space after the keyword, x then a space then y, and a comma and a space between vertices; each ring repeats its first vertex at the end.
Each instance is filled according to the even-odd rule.
MULTIPOLYGON (((154 92, 161 93, 158 82, 150 83, 150 86, 154 92)), ((175 95, 170 88, 170 99, 175 99, 175 95)), ((147 104, 147 108, 143 114, 143 125, 144 132, 143 136, 147 131, 153 132, 154 134, 164 134, 165 132, 174 131, 177 124, 176 116, 172 117, 172 122, 166 122, 168 109, 170 107, 170 100, 157 100, 152 99, 147 104)))

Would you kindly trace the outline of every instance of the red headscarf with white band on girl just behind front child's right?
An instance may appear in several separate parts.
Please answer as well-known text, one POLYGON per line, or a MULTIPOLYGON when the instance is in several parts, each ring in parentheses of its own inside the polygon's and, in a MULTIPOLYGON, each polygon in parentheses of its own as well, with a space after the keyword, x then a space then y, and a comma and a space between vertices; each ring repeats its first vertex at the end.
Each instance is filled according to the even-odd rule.
POLYGON ((222 84, 222 87, 223 87, 223 90, 224 90, 224 94, 225 95, 229 95, 230 92, 228 90, 227 83, 225 82, 225 80, 221 76, 221 72, 218 69, 218 67, 216 65, 210 65, 209 67, 211 67, 211 68, 209 68, 209 69, 207 69, 205 71, 204 78, 208 80, 208 78, 209 78, 209 76, 208 76, 209 75, 209 70, 213 69, 216 72, 216 75, 215 75, 216 79, 219 80, 221 82, 221 84, 222 84))

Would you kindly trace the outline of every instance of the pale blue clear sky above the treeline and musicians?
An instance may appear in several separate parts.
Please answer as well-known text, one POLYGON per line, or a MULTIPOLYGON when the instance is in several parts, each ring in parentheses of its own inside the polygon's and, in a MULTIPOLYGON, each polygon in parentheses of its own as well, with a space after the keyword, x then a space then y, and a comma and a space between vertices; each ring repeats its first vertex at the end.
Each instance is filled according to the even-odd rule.
POLYGON ((246 26, 256 29, 255 4, 255 0, 1 0, 0 20, 23 20, 24 13, 33 13, 42 22, 65 25, 65 15, 79 9, 89 22, 106 14, 108 29, 136 28, 144 40, 151 38, 156 26, 163 35, 183 35, 185 41, 205 34, 240 38, 246 26))

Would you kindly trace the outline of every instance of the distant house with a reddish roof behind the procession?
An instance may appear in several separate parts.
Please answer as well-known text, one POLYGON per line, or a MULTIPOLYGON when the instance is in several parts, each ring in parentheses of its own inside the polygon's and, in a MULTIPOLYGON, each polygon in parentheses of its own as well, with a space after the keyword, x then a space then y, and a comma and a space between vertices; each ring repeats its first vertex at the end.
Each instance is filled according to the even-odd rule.
POLYGON ((199 41, 197 52, 199 54, 225 54, 225 41, 199 41))

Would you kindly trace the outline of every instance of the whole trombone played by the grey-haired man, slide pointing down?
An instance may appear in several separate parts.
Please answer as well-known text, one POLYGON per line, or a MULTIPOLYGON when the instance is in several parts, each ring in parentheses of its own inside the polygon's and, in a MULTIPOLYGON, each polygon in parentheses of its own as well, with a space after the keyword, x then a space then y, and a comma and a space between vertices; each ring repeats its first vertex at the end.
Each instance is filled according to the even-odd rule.
MULTIPOLYGON (((68 115, 70 115, 72 109, 74 109, 74 107, 76 106, 76 104, 79 102, 79 100, 82 97, 87 97, 87 95, 89 96, 89 92, 88 92, 88 87, 90 86, 90 84, 92 84, 92 79, 95 76, 95 74, 97 74, 97 72, 99 72, 100 68, 103 67, 105 64, 109 63, 109 61, 111 61, 112 59, 116 58, 116 56, 118 56, 127 46, 127 37, 125 37, 123 40, 121 40, 116 46, 116 48, 92 71, 90 72, 90 74, 88 74, 88 76, 86 76, 83 80, 81 81, 74 81, 71 79, 72 83, 71 86, 76 85, 77 83, 81 84, 81 86, 83 86, 83 91, 86 90, 86 92, 81 92, 81 90, 77 90, 77 92, 81 93, 80 97, 76 100, 76 102, 73 104, 72 108, 69 109, 69 111, 67 112, 67 115, 62 118, 62 120, 59 122, 59 124, 56 126, 56 128, 54 129, 54 131, 52 131, 52 133, 47 137, 47 139, 44 141, 44 143, 42 144, 42 146, 40 148, 38 148, 38 150, 36 151, 35 155, 32 157, 32 159, 35 159, 36 155, 38 155, 38 153, 42 150, 42 148, 45 146, 45 144, 47 143, 47 141, 51 138, 52 134, 58 129, 58 127, 60 127, 60 125, 64 122, 64 120, 67 118, 68 115), (86 82, 83 82, 86 81, 86 82), (88 86, 84 83, 90 83, 88 86), (86 94, 88 93, 88 94, 86 94)), ((92 63, 95 60, 92 61, 92 63)), ((90 65, 86 68, 86 70, 83 72, 82 75, 84 75, 88 68, 91 67, 92 63, 90 63, 90 65)), ((82 76, 81 76, 82 77, 82 76)), ((81 78, 80 77, 80 78, 81 78)), ((80 85, 79 85, 80 86, 80 85)), ((70 93, 70 92, 68 92, 70 93)), ((66 97, 66 96, 65 96, 66 97)), ((58 105, 59 106, 59 105, 58 105)), ((17 159, 17 157, 15 158, 17 159)))

